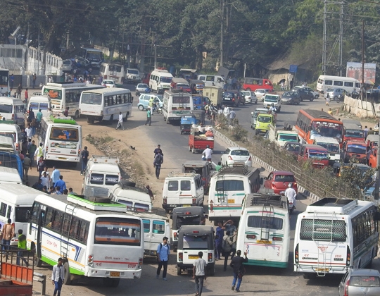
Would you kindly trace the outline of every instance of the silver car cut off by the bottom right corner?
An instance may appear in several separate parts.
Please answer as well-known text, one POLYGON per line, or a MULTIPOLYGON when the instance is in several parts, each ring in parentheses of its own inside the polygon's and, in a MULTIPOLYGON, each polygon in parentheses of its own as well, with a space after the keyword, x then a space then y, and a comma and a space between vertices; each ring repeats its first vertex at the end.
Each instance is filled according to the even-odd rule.
POLYGON ((350 269, 339 284, 339 296, 379 296, 380 272, 376 269, 350 269))

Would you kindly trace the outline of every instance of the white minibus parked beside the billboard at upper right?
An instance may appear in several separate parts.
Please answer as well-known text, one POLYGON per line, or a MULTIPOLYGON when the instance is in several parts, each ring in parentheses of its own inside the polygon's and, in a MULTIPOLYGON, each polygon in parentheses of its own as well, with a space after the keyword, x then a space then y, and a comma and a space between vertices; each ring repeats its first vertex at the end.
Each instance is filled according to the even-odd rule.
POLYGON ((346 92, 349 93, 359 92, 360 82, 355 78, 319 75, 317 81, 317 91, 323 94, 329 88, 343 88, 343 90, 346 90, 346 92))

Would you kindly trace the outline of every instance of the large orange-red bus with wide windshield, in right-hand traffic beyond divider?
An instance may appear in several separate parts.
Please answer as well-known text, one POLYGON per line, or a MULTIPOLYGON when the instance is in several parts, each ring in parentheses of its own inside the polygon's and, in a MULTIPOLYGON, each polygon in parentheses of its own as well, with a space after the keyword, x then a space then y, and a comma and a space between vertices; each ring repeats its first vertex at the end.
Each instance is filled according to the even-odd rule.
POLYGON ((300 110, 294 129, 304 144, 322 136, 334 137, 342 147, 343 123, 324 111, 300 110))

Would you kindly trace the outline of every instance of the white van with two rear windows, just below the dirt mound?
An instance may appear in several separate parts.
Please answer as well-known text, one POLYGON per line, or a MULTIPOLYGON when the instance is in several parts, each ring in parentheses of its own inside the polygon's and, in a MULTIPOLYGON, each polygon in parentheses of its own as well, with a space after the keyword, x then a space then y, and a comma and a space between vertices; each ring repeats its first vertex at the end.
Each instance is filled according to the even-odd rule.
POLYGON ((93 155, 87 162, 82 194, 89 195, 87 186, 112 189, 121 181, 119 159, 114 156, 93 155))

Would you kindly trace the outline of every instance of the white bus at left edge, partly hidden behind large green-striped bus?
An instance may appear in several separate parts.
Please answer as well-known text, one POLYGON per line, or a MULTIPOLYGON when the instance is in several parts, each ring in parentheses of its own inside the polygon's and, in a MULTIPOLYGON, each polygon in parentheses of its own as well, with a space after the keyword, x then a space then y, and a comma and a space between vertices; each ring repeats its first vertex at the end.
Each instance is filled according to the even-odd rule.
POLYGON ((18 245, 18 230, 27 234, 27 212, 32 210, 34 199, 42 192, 31 187, 15 183, 0 183, 0 229, 8 218, 14 226, 16 236, 11 239, 11 245, 18 245))

